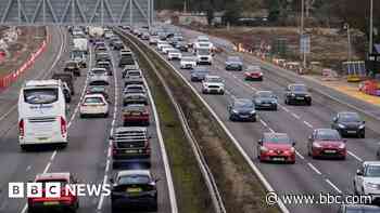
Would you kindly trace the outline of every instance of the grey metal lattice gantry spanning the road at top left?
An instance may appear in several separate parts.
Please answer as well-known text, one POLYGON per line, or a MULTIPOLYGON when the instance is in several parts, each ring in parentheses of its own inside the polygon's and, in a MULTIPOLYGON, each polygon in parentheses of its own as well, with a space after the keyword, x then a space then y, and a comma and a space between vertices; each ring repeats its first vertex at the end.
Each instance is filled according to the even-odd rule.
POLYGON ((150 25, 154 0, 0 0, 0 25, 150 25))

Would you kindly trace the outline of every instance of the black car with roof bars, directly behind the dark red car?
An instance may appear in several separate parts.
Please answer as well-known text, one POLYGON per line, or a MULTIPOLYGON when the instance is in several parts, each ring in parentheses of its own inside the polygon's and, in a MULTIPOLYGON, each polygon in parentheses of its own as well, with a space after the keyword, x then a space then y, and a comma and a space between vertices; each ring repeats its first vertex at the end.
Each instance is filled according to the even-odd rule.
POLYGON ((112 167, 151 164, 151 145, 147 128, 118 127, 111 136, 112 167))

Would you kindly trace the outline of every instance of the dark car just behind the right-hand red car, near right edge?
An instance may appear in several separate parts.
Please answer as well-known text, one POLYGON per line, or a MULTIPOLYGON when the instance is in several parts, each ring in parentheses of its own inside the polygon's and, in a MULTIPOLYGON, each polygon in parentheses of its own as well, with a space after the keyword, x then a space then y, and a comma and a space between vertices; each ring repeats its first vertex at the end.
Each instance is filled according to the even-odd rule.
POLYGON ((338 112, 332 118, 331 129, 338 130, 342 136, 366 137, 366 121, 354 111, 338 112))

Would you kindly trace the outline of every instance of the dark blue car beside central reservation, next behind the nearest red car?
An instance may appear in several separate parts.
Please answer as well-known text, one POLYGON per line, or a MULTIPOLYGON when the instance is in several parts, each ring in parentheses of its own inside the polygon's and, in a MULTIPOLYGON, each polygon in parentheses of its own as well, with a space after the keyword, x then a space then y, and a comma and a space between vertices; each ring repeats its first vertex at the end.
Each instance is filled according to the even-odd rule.
POLYGON ((257 120, 256 110, 251 99, 235 98, 228 106, 228 118, 230 121, 252 121, 257 120))

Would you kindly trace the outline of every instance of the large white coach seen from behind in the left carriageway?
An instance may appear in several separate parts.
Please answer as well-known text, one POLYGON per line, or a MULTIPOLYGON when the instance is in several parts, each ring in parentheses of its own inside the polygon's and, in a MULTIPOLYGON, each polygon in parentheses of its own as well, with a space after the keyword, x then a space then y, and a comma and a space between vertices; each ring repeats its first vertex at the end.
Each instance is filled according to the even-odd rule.
POLYGON ((66 103, 61 80, 27 81, 18 97, 18 142, 67 145, 66 103))

